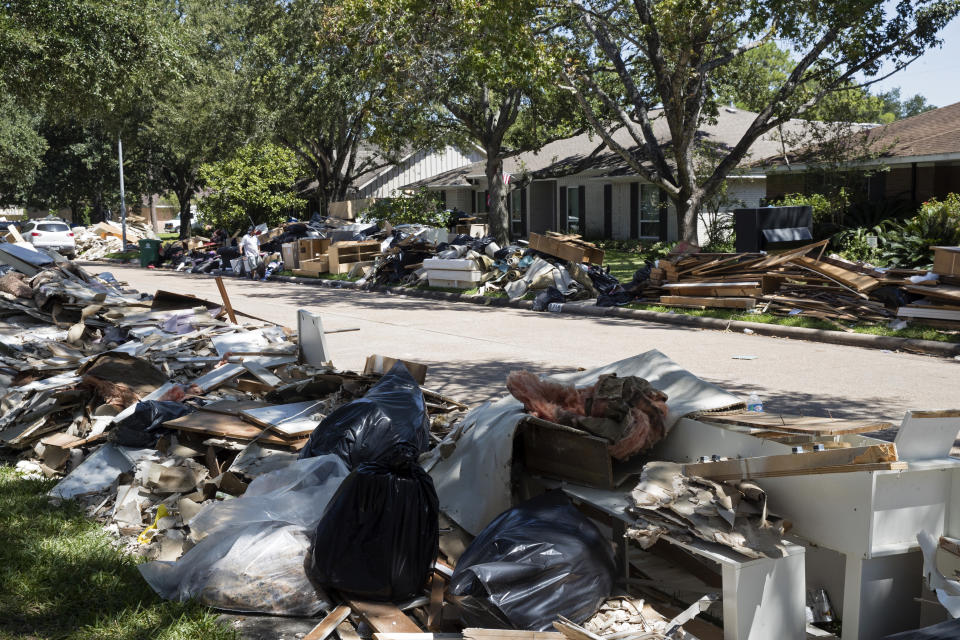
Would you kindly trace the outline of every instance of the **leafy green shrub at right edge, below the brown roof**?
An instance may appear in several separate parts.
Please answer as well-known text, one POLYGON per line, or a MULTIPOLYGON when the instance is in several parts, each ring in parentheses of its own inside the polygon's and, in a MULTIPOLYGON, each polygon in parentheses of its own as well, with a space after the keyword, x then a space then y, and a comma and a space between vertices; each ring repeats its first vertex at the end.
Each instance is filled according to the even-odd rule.
POLYGON ((924 202, 914 217, 891 221, 883 234, 882 257, 900 268, 929 268, 932 246, 960 245, 960 195, 924 202))

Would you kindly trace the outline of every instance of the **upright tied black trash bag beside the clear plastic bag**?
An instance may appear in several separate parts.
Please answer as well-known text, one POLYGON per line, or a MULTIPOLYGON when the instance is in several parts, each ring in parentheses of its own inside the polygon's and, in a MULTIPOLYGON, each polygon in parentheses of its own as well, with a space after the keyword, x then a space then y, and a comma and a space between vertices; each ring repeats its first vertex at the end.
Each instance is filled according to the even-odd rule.
POLYGON ((337 489, 310 549, 314 584, 365 600, 421 595, 439 548, 440 505, 416 462, 362 464, 337 489))

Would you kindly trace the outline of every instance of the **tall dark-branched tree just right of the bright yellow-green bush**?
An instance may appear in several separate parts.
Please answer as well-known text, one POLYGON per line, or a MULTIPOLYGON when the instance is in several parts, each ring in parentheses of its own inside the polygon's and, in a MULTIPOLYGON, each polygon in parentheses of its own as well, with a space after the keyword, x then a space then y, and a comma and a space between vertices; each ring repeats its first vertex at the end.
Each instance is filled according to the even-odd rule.
POLYGON ((377 38, 395 18, 388 7, 335 0, 251 5, 253 48, 244 61, 251 117, 309 170, 320 211, 404 151, 428 145, 420 136, 423 110, 399 82, 408 50, 377 38))

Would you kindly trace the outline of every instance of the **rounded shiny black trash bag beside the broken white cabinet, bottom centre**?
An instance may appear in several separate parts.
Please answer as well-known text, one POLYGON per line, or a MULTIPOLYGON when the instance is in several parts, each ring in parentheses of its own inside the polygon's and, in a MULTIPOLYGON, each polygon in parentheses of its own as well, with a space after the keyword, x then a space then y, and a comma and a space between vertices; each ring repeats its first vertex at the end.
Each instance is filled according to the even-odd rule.
POLYGON ((468 627, 552 629, 582 623, 613 589, 610 542, 559 490, 501 513, 457 561, 450 580, 468 627))

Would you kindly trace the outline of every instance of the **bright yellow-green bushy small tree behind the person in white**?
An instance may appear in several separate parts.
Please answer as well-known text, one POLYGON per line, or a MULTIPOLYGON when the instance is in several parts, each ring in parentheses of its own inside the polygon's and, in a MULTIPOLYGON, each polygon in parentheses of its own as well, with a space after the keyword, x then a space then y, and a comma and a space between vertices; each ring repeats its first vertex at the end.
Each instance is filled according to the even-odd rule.
POLYGON ((294 193, 301 176, 296 156, 277 145, 246 145, 228 160, 201 166, 199 174, 209 190, 199 208, 204 222, 214 227, 276 225, 306 205, 294 193))

